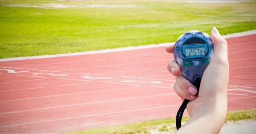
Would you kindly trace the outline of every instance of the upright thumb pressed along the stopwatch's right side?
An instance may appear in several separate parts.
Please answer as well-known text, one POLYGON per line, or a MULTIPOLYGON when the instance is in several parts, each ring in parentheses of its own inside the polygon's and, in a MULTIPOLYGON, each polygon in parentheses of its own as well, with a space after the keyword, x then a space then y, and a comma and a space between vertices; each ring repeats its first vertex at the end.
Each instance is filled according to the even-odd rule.
POLYGON ((212 57, 212 60, 215 64, 228 64, 227 41, 215 27, 212 28, 211 39, 214 45, 214 56, 212 57))

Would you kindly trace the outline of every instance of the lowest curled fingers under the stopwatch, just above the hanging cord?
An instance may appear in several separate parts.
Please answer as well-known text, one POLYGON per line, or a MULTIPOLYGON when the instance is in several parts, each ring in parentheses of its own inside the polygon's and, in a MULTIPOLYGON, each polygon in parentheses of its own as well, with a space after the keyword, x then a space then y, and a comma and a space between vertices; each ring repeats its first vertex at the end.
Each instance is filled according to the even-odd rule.
POLYGON ((186 98, 188 100, 195 100, 195 98, 197 98, 196 93, 198 90, 181 74, 176 76, 174 90, 181 98, 186 98))

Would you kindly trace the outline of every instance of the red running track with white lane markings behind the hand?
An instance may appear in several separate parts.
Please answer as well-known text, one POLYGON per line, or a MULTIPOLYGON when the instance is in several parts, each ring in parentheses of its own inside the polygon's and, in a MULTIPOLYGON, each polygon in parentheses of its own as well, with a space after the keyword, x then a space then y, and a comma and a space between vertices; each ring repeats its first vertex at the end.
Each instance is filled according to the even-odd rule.
MULTIPOLYGON (((256 34, 227 39, 228 110, 256 108, 256 34)), ((60 133, 175 117, 165 47, 0 62, 0 134, 60 133)), ((186 116, 187 114, 185 114, 186 116)))

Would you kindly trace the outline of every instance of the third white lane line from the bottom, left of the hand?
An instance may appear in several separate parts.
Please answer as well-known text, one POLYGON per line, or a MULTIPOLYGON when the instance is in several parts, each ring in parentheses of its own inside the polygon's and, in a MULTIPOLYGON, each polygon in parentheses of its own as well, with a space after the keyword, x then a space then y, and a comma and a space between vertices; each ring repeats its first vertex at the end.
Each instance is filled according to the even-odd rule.
POLYGON ((15 99, 15 100, 3 100, 3 101, 0 101, 0 103, 10 102, 10 101, 18 101, 18 100, 31 100, 31 99, 38 99, 38 98, 48 98, 48 97, 56 97, 56 96, 64 96, 64 95, 86 94, 86 93, 92 93, 92 92, 107 92, 107 91, 122 90, 122 89, 134 89, 134 88, 139 88, 139 87, 151 87, 151 86, 160 86, 160 85, 163 85, 163 84, 155 84, 155 85, 147 85, 147 86, 137 86, 137 87, 124 87, 124 88, 117 88, 117 89, 105 89, 105 90, 96 90, 96 91, 88 91, 88 92, 75 92, 75 93, 69 93, 69 94, 48 95, 48 96, 23 98, 23 99, 15 99))

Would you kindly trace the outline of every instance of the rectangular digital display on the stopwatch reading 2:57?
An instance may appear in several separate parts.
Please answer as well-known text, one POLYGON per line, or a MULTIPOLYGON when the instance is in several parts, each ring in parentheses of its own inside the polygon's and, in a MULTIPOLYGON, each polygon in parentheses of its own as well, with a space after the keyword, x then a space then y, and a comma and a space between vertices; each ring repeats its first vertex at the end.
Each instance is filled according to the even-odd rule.
POLYGON ((183 45, 183 54, 186 58, 202 58, 207 54, 207 44, 183 45))

